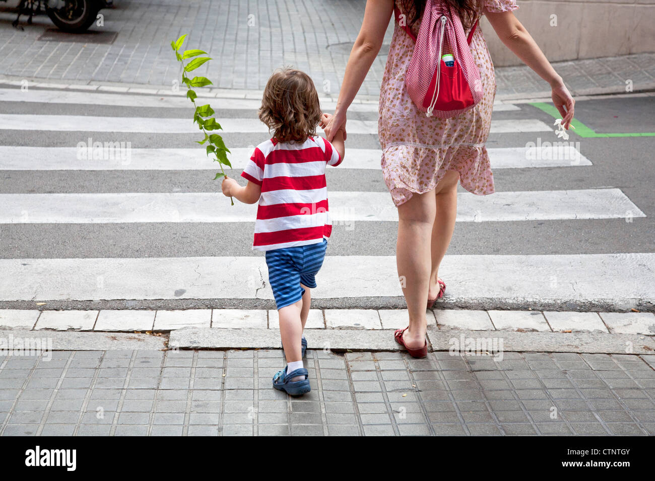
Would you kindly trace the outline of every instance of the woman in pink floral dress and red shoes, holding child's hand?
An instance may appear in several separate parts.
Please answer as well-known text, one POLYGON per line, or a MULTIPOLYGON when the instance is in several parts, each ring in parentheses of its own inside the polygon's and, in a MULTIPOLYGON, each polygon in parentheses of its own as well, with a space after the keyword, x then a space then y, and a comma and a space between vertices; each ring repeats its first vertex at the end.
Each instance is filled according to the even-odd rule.
MULTIPOLYGON (((457 9, 467 34, 480 15, 487 16, 500 40, 550 84, 553 103, 568 129, 574 100, 512 13, 518 8, 515 0, 446 1, 457 9)), ((346 110, 382 46, 394 6, 417 35, 425 3, 426 0, 366 2, 364 22, 350 52, 335 113, 325 128, 328 140, 345 127, 346 110)), ((405 280, 403 294, 409 311, 409 326, 396 331, 396 340, 412 356, 424 357, 426 306, 431 308, 445 290, 438 272, 455 228, 457 181, 474 194, 495 192, 485 142, 491 127, 496 82, 487 43, 478 27, 470 48, 479 67, 483 98, 474 109, 453 118, 426 117, 404 86, 413 48, 413 40, 396 22, 380 89, 378 131, 384 181, 398 207, 396 262, 398 275, 405 280)))

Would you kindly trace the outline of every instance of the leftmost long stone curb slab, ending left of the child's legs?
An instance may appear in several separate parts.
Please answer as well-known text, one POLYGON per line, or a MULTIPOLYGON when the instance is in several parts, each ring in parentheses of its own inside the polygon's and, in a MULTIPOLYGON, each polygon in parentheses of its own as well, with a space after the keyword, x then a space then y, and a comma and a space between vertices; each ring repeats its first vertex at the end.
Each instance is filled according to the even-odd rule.
POLYGON ((49 351, 115 351, 141 349, 163 351, 166 338, 124 332, 79 332, 61 330, 0 330, 0 354, 4 350, 22 350, 35 343, 49 351), (27 343, 27 344, 26 344, 27 343))

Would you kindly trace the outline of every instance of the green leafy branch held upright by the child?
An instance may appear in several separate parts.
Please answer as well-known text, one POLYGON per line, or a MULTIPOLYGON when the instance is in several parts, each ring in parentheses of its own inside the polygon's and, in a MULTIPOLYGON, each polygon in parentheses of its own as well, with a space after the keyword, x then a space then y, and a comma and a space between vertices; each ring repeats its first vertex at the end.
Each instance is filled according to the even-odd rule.
MULTIPOLYGON (((232 168, 232 164, 230 164, 230 161, 227 160, 227 154, 230 151, 227 149, 227 147, 225 147, 223 137, 218 134, 209 133, 212 132, 212 130, 223 130, 223 128, 221 127, 221 124, 216 122, 216 119, 213 117, 214 109, 212 109, 211 105, 196 105, 196 98, 198 98, 198 95, 196 94, 195 90, 193 90, 195 87, 204 87, 206 85, 213 84, 206 77, 193 77, 193 79, 189 79, 189 77, 187 77, 188 72, 194 71, 200 67, 200 65, 203 65, 212 59, 210 57, 199 57, 200 55, 207 54, 207 52, 204 52, 204 50, 184 50, 184 52, 180 54, 179 49, 184 43, 186 36, 187 34, 184 34, 176 41, 172 41, 170 46, 175 51, 175 56, 178 59, 178 62, 182 64, 182 82, 184 82, 184 84, 187 86, 187 98, 191 100, 193 106, 196 109, 195 113, 193 114, 193 123, 198 124, 198 129, 202 130, 204 134, 204 139, 198 140, 196 143, 199 143, 200 145, 207 143, 207 156, 212 154, 214 160, 218 162, 221 168, 221 171, 216 174, 216 177, 214 177, 214 180, 216 180, 219 179, 219 177, 225 177, 223 166, 232 168), (185 63, 184 61, 189 58, 193 58, 193 60, 185 63)), ((234 200, 232 198, 230 198, 230 202, 232 205, 234 205, 234 200)))

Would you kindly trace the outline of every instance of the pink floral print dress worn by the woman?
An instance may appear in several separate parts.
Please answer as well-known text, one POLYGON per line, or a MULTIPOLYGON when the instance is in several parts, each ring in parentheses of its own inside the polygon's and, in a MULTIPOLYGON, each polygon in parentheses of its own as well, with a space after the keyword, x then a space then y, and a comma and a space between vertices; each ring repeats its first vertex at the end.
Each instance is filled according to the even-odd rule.
MULTIPOLYGON (((396 5, 402 11, 399 0, 396 5)), ((516 10, 515 0, 480 0, 479 14, 516 10)), ((419 33, 421 21, 412 30, 419 33)), ((466 31, 468 34, 468 31, 466 31)), ((427 117, 419 111, 405 88, 405 72, 414 41, 398 26, 389 48, 380 89, 378 134, 382 145, 382 170, 386 187, 396 205, 436 187, 447 170, 460 174, 460 185, 478 195, 495 192, 485 142, 491 128, 496 95, 493 63, 483 33, 477 26, 471 52, 480 69, 483 98, 453 118, 427 117)))

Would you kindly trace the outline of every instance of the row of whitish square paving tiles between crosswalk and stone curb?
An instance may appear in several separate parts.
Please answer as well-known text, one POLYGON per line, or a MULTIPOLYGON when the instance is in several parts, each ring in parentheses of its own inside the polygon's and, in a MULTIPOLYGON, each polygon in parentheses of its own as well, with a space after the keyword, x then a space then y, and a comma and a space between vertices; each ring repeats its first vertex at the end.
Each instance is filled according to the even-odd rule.
MULTIPOLYGON (((435 309, 428 325, 440 330, 521 330, 527 332, 605 332, 655 335, 652 312, 540 312, 435 309)), ((401 329, 407 310, 312 309, 308 329, 401 329)), ((0 327, 10 329, 166 332, 183 327, 279 329, 276 310, 0 310, 0 327)))

